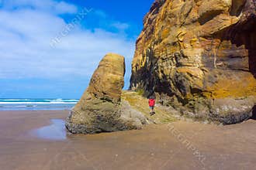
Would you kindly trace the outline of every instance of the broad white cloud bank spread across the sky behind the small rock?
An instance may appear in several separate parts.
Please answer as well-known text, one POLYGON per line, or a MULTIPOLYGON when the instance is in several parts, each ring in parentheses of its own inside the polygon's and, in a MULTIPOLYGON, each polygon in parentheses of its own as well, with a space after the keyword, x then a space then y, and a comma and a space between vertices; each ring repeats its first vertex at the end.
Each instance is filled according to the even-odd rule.
MULTIPOLYGON (((51 39, 67 24, 57 13, 74 12, 77 8, 74 5, 53 0, 13 0, 4 4, 0 10, 0 78, 89 77, 109 52, 126 56, 130 67, 134 42, 121 32, 77 26, 62 37, 56 48, 50 46, 51 39), (27 5, 35 8, 26 8, 27 5), (19 8, 11 10, 13 6, 19 8), (49 12, 51 8, 55 9, 49 12)), ((126 27, 120 22, 116 26, 126 27)), ((126 77, 130 69, 127 73, 126 77)))

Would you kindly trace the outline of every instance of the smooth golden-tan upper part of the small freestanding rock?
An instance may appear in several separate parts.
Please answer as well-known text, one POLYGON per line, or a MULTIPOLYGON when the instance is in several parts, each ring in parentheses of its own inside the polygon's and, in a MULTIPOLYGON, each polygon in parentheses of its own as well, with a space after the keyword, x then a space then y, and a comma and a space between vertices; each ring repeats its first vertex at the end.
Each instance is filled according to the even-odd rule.
POLYGON ((125 61, 123 56, 109 53, 99 63, 92 75, 89 87, 75 108, 85 106, 88 97, 117 104, 121 100, 124 85, 125 61))

